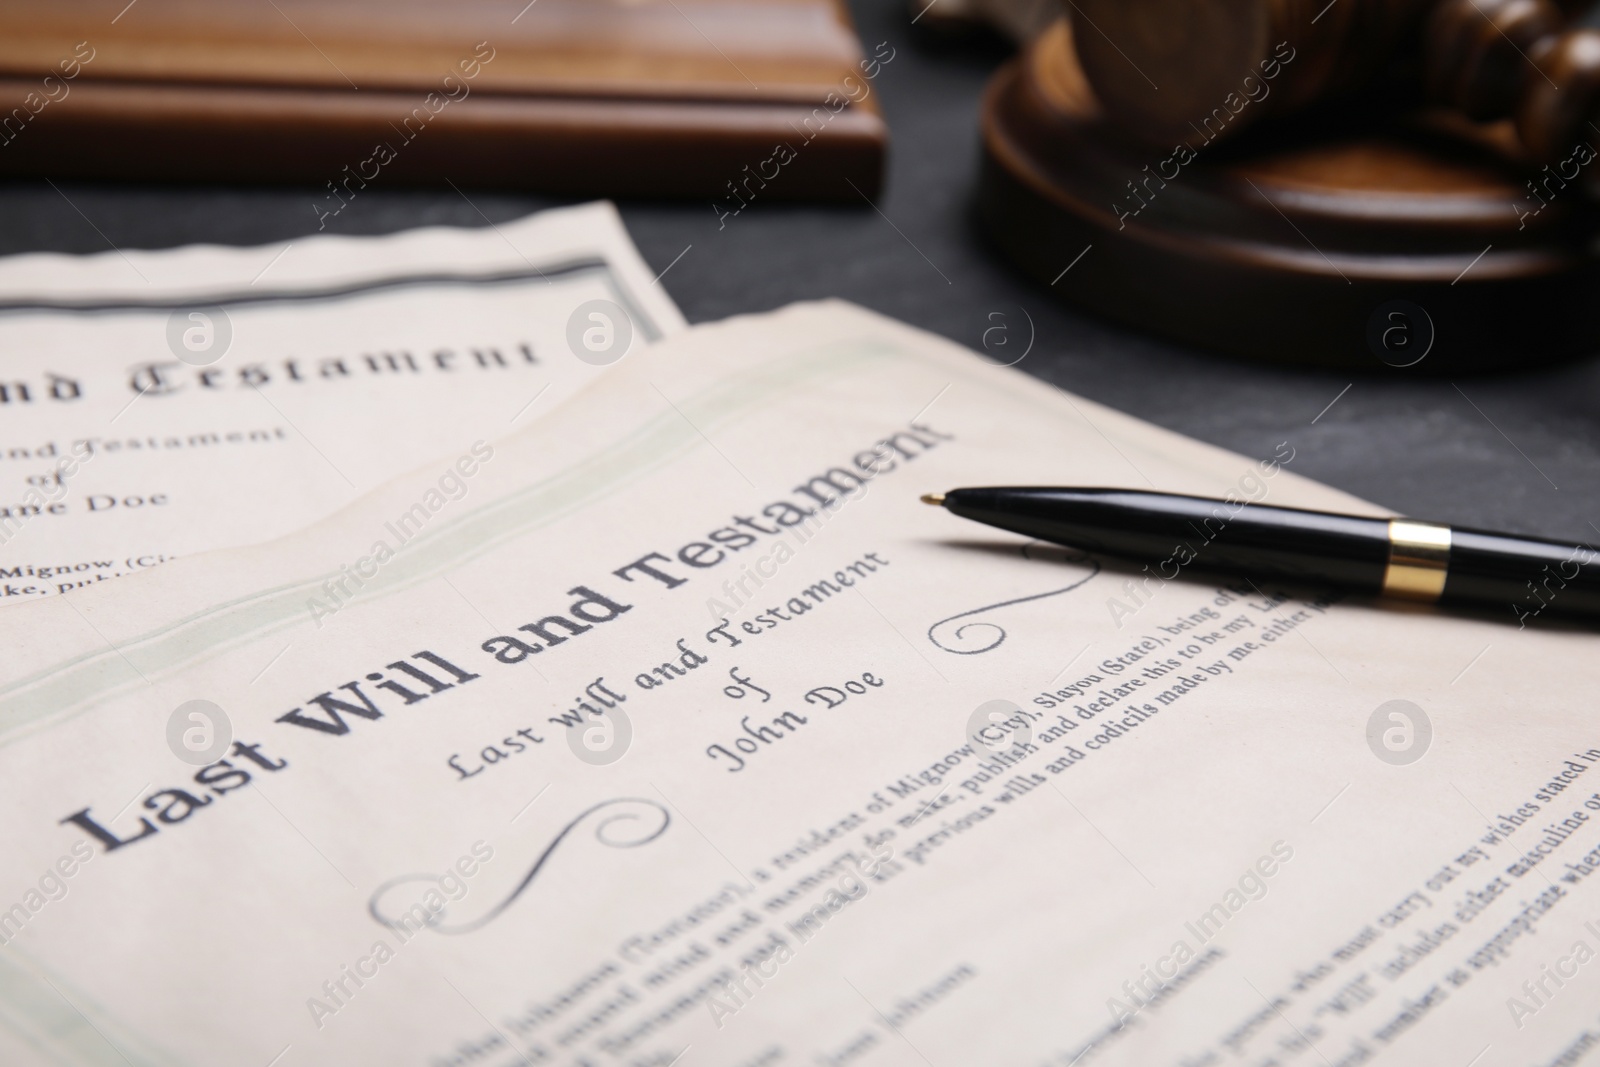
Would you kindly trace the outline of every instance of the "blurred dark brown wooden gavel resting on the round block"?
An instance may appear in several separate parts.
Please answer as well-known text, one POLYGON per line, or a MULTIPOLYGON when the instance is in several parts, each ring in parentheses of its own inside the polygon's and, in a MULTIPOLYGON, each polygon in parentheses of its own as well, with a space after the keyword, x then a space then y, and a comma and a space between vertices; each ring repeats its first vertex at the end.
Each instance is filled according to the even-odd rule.
POLYGON ((1211 141, 1370 83, 1397 62, 1427 99, 1512 118, 1538 163, 1600 142, 1600 30, 1584 0, 1067 0, 1107 118, 1211 141))

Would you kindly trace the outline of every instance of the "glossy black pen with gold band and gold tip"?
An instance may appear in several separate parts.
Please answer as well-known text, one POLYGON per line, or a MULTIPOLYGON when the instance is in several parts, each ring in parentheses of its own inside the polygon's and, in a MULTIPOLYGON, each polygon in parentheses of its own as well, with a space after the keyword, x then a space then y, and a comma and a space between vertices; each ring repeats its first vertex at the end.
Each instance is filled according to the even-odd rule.
POLYGON ((922 501, 1038 541, 1144 563, 1163 582, 1197 566, 1509 609, 1523 625, 1541 613, 1600 617, 1600 552, 1584 544, 1139 490, 1002 486, 922 501))

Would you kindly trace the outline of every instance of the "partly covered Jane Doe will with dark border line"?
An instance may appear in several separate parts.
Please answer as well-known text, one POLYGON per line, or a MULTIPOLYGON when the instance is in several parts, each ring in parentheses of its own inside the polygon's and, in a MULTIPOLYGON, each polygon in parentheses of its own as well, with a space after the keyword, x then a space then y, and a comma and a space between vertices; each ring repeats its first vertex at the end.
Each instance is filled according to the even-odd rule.
POLYGON ((610 203, 0 261, 0 605, 298 530, 683 325, 610 203))

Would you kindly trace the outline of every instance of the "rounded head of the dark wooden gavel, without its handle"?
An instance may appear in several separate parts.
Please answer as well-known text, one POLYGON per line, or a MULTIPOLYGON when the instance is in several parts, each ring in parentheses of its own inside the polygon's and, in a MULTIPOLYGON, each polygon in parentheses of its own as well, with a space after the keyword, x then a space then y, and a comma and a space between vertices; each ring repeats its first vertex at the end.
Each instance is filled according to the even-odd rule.
POLYGON ((1067 0, 1107 117, 1170 144, 1214 139, 1354 88, 1429 0, 1067 0), (1210 122, 1208 122, 1210 120, 1210 122))

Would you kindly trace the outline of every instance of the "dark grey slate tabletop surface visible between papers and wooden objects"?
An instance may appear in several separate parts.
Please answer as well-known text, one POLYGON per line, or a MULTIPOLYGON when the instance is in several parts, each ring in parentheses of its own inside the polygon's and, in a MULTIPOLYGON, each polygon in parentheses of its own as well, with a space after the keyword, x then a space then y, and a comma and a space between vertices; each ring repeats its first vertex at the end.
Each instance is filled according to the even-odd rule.
MULTIPOLYGON (((1600 360, 1456 381, 1376 358, 1365 374, 1307 373, 1189 350, 1070 309, 998 261, 973 224, 979 94, 1005 48, 914 29, 901 0, 854 0, 853 10, 869 53, 883 40, 896 48, 874 83, 891 131, 878 210, 755 202, 718 230, 710 203, 621 203, 656 270, 688 248, 662 285, 690 322, 838 296, 974 349, 1003 323, 1008 347, 990 334, 990 349, 1010 360, 1032 318, 1019 370, 1083 397, 1246 456, 1290 440, 1298 474, 1418 518, 1600 539, 1600 360)), ((483 226, 562 203, 475 189, 470 173, 454 181, 461 194, 363 190, 328 232, 483 226)), ((283 242, 317 232, 322 198, 312 187, 58 186, 0 186, 0 253, 283 242)), ((1093 267, 1090 253, 1075 269, 1093 267)))

